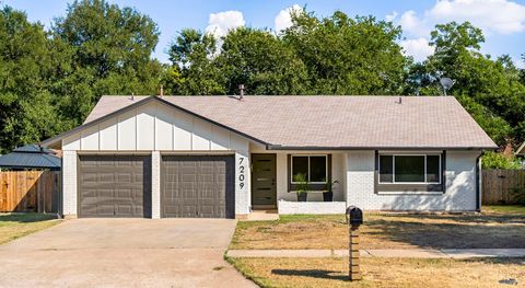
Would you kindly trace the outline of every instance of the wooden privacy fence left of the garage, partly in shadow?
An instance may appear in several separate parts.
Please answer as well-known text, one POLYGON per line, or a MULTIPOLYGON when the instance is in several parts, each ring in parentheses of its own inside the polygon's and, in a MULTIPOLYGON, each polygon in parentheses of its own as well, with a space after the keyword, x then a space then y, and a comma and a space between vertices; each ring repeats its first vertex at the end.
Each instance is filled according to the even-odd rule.
POLYGON ((0 172, 0 212, 58 212, 58 171, 0 172))

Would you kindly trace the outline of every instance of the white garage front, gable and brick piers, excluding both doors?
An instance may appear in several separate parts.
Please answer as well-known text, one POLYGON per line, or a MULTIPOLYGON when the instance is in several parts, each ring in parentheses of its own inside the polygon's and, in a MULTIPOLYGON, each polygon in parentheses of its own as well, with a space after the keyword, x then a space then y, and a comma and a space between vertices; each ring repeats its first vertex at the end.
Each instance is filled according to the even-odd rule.
POLYGON ((77 214, 78 152, 151 153, 152 217, 160 217, 163 153, 235 157, 235 214, 249 214, 249 141, 225 128, 160 102, 149 102, 62 139, 63 214, 77 214))

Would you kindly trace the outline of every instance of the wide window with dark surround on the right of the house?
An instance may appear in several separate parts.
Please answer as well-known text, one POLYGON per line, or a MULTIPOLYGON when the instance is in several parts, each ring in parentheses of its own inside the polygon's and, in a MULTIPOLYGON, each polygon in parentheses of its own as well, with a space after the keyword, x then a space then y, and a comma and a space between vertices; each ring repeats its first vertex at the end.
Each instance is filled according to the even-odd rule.
POLYGON ((380 155, 380 183, 441 183, 441 155, 380 155))

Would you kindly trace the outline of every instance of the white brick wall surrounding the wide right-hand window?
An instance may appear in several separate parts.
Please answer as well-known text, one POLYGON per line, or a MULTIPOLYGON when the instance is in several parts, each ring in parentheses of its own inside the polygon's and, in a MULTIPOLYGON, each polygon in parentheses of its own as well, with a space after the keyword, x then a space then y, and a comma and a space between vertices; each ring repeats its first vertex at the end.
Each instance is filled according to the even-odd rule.
POLYGON ((472 151, 447 151, 444 194, 382 195, 374 193, 374 151, 348 152, 347 205, 369 210, 475 210, 477 157, 472 151))

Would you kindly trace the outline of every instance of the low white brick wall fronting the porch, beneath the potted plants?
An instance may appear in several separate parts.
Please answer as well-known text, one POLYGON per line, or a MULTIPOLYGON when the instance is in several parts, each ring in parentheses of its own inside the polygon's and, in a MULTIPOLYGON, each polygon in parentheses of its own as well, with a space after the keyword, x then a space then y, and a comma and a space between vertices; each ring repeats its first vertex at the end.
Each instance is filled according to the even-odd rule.
POLYGON ((347 204, 343 201, 287 201, 277 203, 279 214, 345 214, 347 204))

